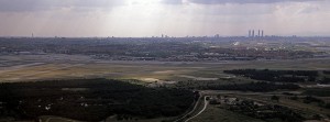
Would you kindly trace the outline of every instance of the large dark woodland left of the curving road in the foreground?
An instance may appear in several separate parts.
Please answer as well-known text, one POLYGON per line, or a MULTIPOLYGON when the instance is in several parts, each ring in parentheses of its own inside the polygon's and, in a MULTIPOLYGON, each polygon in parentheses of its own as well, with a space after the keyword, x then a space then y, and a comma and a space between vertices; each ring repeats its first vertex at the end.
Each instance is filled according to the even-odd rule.
POLYGON ((194 102, 189 90, 146 88, 109 79, 74 79, 0 85, 0 118, 31 120, 59 115, 101 121, 128 118, 176 117, 194 102))

